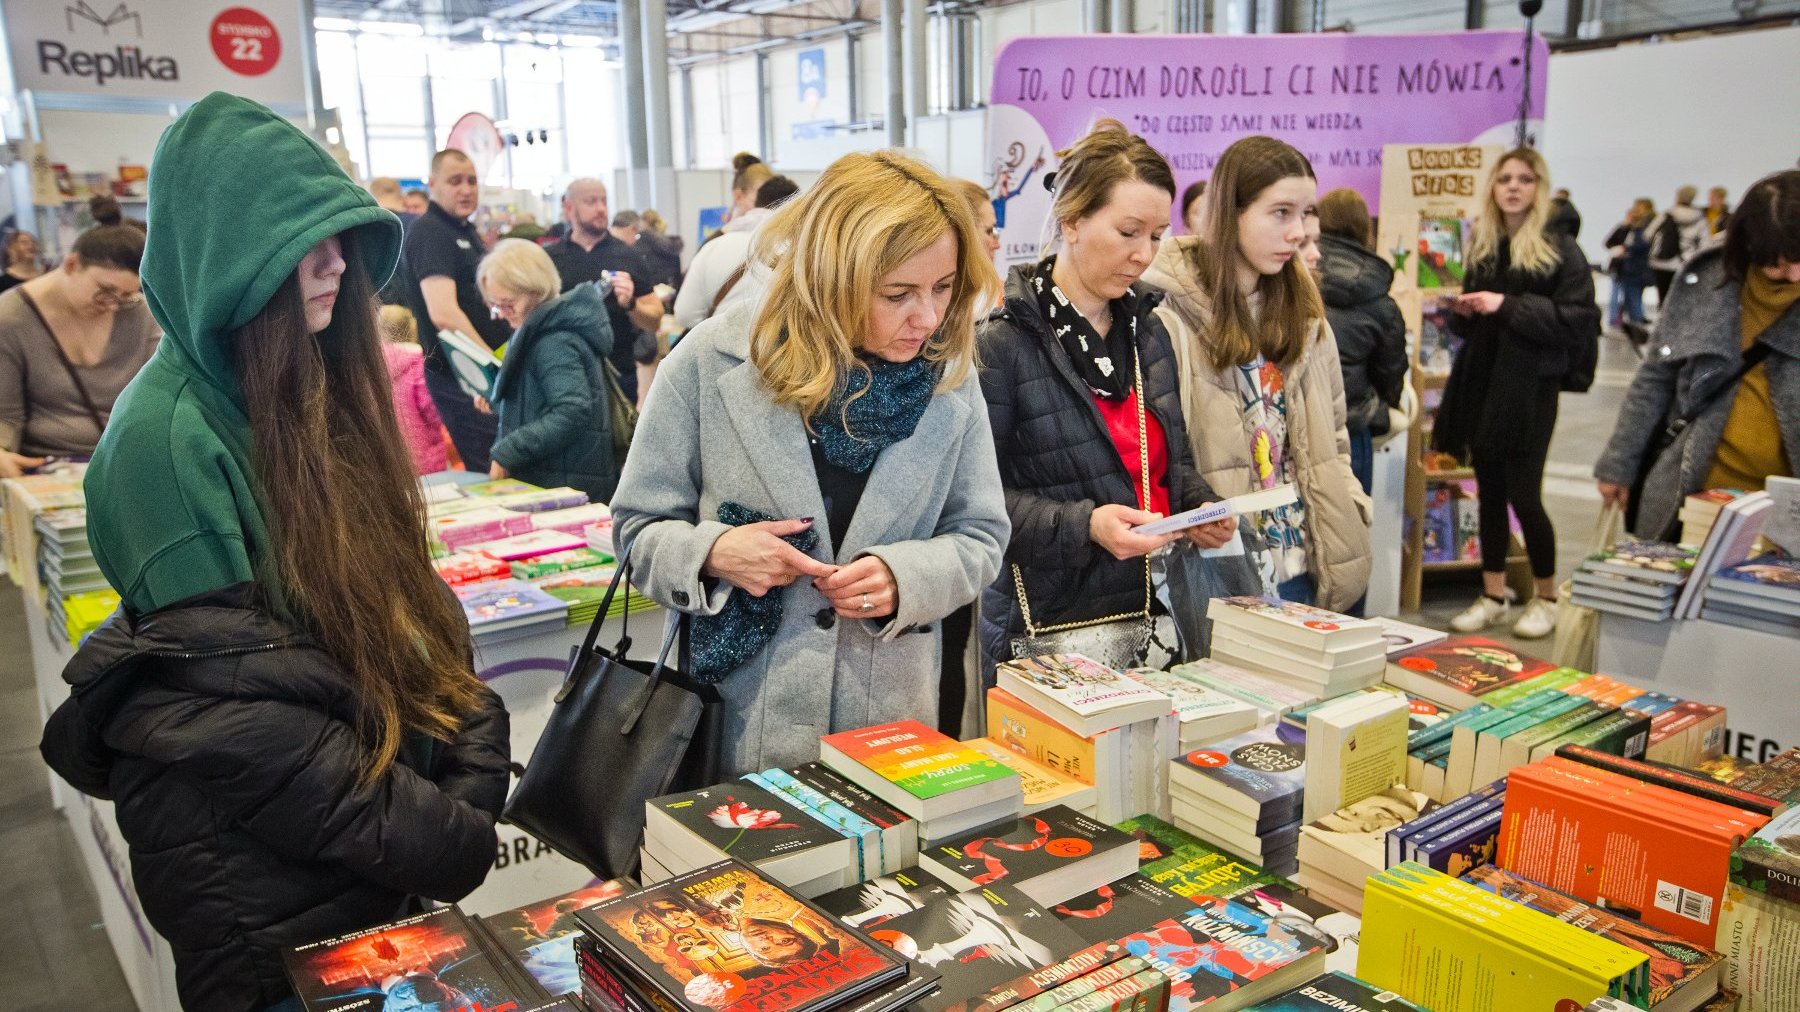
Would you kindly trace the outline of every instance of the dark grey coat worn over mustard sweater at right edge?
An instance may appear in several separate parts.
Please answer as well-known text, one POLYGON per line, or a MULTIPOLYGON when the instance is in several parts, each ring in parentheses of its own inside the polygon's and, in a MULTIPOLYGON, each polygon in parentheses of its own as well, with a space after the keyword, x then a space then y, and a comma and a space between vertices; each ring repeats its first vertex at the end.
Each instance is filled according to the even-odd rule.
MULTIPOLYGON (((1593 475, 1631 486, 1651 441, 1661 432, 1670 407, 1688 411, 1730 378, 1742 362, 1739 324, 1739 285, 1724 285, 1724 263, 1717 248, 1696 256, 1676 276, 1669 290, 1669 308, 1656 321, 1649 357, 1625 391, 1613 439, 1600 454, 1593 475)), ((1773 351, 1759 366, 1769 371, 1769 400, 1775 402, 1780 439, 1789 466, 1800 463, 1800 306, 1791 306, 1760 337, 1773 351)), ((1672 443, 1643 483, 1638 504, 1638 537, 1656 537, 1674 524, 1681 499, 1703 490, 1712 457, 1732 414, 1735 391, 1712 403, 1672 443)))

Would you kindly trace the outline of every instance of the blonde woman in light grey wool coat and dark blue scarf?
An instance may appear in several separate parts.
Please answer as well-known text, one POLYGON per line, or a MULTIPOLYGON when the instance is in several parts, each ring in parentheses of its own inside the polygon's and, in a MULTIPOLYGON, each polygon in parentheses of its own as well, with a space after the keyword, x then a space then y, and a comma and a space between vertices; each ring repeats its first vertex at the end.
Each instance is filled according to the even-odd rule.
POLYGON ((941 176, 846 155, 756 232, 760 303, 657 371, 614 499, 632 582, 693 619, 725 697, 724 765, 936 713, 938 619, 994 580, 1008 522, 974 376, 997 286, 941 176))

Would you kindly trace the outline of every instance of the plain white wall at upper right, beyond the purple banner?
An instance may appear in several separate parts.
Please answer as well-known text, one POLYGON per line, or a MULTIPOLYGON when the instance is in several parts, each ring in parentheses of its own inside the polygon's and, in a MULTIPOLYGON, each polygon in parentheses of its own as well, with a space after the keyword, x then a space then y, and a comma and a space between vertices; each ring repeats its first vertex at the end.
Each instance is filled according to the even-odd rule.
POLYGON ((1582 212, 1580 241, 1600 243, 1638 196, 1658 209, 1683 184, 1751 182, 1800 158, 1800 29, 1769 29, 1550 59, 1543 151, 1550 178, 1582 212))

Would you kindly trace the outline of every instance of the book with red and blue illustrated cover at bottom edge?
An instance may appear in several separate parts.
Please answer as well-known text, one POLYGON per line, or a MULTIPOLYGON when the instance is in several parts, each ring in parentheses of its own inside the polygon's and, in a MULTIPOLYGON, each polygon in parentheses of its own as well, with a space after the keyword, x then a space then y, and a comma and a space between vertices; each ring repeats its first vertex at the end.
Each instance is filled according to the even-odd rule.
POLYGON ((1188 913, 1120 938, 1170 981, 1168 1012, 1233 1012, 1325 972, 1330 940, 1235 900, 1199 897, 1188 913))

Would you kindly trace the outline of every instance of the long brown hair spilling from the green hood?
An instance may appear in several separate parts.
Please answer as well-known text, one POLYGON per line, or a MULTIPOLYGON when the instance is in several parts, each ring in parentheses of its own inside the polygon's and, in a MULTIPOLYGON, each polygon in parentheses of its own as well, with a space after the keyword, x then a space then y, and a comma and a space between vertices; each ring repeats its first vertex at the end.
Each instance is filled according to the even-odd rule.
POLYGON ((382 360, 374 286, 349 234, 331 326, 306 333, 299 277, 230 335, 250 420, 257 560, 279 607, 338 663, 374 780, 409 733, 448 740, 475 709, 468 625, 430 565, 425 504, 382 360))

